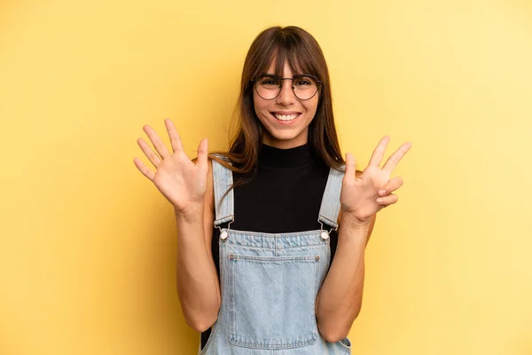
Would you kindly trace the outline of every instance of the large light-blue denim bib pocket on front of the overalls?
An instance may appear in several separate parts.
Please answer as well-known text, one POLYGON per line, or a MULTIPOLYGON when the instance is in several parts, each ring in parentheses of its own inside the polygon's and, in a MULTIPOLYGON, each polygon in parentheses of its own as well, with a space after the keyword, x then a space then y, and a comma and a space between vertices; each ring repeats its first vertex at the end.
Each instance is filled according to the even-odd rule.
POLYGON ((255 349, 315 343, 319 256, 231 254, 230 341, 255 349))

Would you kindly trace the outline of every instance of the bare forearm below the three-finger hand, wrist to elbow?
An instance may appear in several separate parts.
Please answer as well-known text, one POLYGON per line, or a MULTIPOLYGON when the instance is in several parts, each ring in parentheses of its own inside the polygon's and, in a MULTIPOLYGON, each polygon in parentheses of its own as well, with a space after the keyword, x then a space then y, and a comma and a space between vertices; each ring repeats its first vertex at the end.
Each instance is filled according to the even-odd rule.
POLYGON ((338 245, 317 297, 317 327, 329 342, 348 335, 362 306, 364 253, 370 224, 342 218, 338 245))

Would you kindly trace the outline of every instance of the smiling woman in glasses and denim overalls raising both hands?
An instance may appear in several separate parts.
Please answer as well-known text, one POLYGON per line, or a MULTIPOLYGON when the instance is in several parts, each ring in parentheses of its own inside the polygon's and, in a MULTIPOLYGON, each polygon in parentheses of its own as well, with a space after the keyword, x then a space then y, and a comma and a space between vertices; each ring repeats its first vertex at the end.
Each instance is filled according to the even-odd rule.
POLYGON ((376 213, 397 201, 403 180, 390 174, 411 144, 382 168, 387 137, 363 172, 343 161, 324 55, 296 27, 252 43, 229 152, 208 154, 203 139, 192 162, 165 124, 172 153, 145 126, 157 154, 137 142, 156 171, 134 162, 175 207, 177 289, 200 353, 350 353, 364 249, 376 213))

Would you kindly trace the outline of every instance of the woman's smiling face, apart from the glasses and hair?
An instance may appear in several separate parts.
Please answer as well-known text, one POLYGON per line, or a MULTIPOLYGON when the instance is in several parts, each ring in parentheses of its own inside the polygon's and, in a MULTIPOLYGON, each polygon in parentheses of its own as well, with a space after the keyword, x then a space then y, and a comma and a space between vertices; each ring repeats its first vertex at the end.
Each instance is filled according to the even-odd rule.
MULTIPOLYGON (((275 75, 275 59, 267 74, 275 75)), ((292 70, 285 62, 283 78, 292 77, 292 70)), ((311 99, 301 100, 294 95, 291 80, 281 83, 281 92, 275 99, 262 99, 253 91, 254 110, 265 128, 262 142, 281 149, 302 146, 309 138, 309 124, 316 114, 319 93, 311 99)))

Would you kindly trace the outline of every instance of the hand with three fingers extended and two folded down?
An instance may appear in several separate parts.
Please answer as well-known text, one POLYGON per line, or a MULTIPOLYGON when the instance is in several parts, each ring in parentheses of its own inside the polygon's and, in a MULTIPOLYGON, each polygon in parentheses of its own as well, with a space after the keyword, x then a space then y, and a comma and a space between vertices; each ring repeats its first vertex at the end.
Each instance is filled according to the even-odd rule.
POLYGON ((346 154, 346 173, 340 194, 342 219, 348 217, 357 224, 369 223, 371 217, 380 209, 397 201, 393 192, 403 185, 403 179, 390 179, 390 175, 411 148, 411 143, 406 142, 400 146, 380 169, 389 140, 387 136, 380 139, 370 163, 360 176, 356 176, 355 158, 349 153, 346 154))

